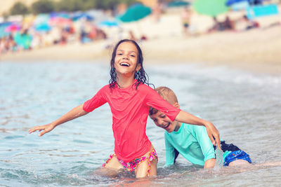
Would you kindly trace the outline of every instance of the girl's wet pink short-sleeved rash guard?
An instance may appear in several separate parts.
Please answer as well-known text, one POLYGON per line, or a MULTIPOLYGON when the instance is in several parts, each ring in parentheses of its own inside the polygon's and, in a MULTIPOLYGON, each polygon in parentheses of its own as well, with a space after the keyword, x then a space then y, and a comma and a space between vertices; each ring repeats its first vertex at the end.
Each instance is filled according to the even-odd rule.
POLYGON ((138 85, 137 90, 134 84, 128 88, 112 90, 110 85, 105 85, 93 98, 84 103, 83 109, 91 112, 106 102, 112 111, 115 154, 124 162, 130 162, 150 149, 151 142, 145 134, 149 106, 163 111, 172 121, 181 111, 143 83, 138 85))

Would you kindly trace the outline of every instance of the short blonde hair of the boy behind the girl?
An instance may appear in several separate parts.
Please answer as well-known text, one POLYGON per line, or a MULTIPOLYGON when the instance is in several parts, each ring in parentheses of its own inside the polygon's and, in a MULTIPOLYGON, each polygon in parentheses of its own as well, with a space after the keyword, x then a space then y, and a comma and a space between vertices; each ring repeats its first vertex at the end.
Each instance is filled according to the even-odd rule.
MULTIPOLYGON (((173 105, 175 103, 178 102, 178 98, 176 97, 176 94, 173 92, 173 90, 171 90, 168 87, 165 86, 160 86, 158 88, 155 88, 155 91, 163 98, 165 99, 167 102, 169 102, 169 104, 173 105)), ((153 115, 155 113, 157 113, 157 109, 154 109, 150 106, 150 110, 149 110, 149 114, 153 115)))

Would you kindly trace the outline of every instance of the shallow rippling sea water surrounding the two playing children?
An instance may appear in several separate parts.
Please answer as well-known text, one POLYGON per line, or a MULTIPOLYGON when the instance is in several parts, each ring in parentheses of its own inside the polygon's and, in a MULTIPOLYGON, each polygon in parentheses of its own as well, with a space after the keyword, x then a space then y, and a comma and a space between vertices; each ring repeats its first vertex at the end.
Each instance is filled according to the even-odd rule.
MULTIPOLYGON (((214 123, 221 138, 249 153, 254 165, 281 160, 281 76, 200 64, 145 69, 151 83, 172 88, 181 109, 214 123)), ((91 98, 108 83, 107 62, 1 62, 0 70, 0 186, 280 186, 280 166, 204 170, 179 157, 173 167, 163 167, 164 131, 150 119, 158 176, 96 174, 114 148, 107 104, 44 137, 27 131, 91 98)))

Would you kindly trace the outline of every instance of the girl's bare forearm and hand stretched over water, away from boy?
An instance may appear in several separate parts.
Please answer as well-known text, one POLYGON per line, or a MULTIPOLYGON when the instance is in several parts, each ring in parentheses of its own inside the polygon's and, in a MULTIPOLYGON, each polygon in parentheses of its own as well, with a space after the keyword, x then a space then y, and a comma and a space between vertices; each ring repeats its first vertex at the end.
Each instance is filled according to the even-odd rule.
POLYGON ((76 106, 74 109, 72 109, 71 111, 65 113, 65 115, 63 115, 62 117, 58 118, 57 120, 53 121, 52 123, 48 123, 47 125, 41 125, 41 126, 35 126, 32 127, 28 132, 32 133, 35 131, 42 131, 39 134, 39 137, 41 137, 42 135, 44 135, 46 132, 50 132, 51 130, 53 130, 56 126, 63 124, 69 120, 73 120, 75 118, 79 118, 80 116, 84 116, 85 114, 87 114, 88 112, 83 110, 83 104, 76 106))

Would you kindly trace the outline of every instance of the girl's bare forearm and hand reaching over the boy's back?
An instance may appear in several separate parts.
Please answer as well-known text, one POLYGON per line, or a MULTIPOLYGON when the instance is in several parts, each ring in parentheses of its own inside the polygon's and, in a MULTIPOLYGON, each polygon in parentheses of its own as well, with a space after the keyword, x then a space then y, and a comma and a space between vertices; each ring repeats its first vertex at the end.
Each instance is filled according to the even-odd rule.
POLYGON ((178 116, 176 116, 175 120, 181 123, 188 123, 192 125, 204 125, 206 127, 208 136, 211 139, 211 143, 214 146, 217 145, 218 148, 221 150, 221 139, 219 137, 219 132, 213 123, 207 120, 203 120, 201 118, 197 118, 196 116, 193 116, 191 113, 185 111, 180 111, 178 113, 178 116))

